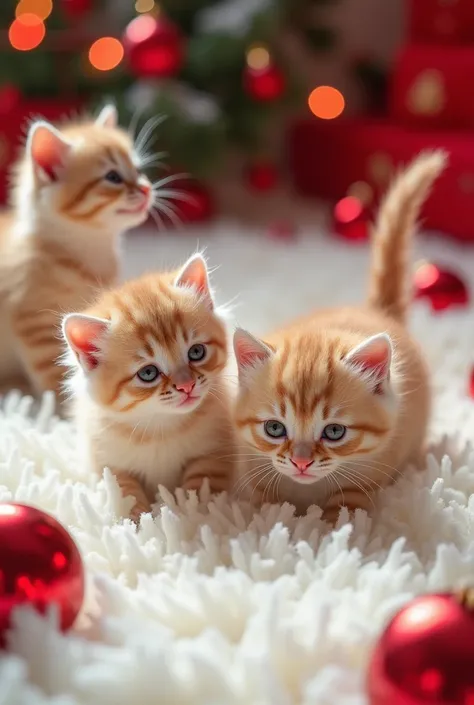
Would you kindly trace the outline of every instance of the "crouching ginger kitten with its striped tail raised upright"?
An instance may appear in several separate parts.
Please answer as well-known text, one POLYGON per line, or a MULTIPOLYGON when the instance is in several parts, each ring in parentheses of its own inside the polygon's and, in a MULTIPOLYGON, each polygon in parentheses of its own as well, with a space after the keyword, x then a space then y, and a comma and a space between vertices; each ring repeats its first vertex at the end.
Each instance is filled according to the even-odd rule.
POLYGON ((389 190, 374 229, 366 305, 321 310, 258 340, 234 337, 236 490, 297 511, 370 509, 372 493, 418 461, 430 410, 423 356, 405 327, 407 249, 421 205, 445 165, 422 154, 389 190), (252 455, 253 454, 253 455, 252 455), (248 460, 251 458, 251 460, 248 460))

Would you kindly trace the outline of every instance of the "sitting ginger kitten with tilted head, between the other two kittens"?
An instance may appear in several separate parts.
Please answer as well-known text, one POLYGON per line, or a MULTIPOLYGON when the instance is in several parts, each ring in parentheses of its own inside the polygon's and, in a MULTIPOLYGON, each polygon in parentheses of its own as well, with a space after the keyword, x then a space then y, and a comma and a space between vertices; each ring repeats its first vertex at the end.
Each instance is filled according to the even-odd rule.
POLYGON ((63 322, 79 438, 96 472, 115 474, 136 519, 159 484, 228 488, 231 427, 224 324, 203 258, 106 292, 63 322))

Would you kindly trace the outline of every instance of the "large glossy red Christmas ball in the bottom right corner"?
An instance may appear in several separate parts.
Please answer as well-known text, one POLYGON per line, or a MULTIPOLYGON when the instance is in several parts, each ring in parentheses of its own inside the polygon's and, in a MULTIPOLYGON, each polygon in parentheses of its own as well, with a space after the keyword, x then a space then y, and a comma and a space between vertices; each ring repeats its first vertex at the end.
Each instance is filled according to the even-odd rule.
POLYGON ((391 621, 370 662, 371 705, 474 702, 474 592, 424 595, 391 621))

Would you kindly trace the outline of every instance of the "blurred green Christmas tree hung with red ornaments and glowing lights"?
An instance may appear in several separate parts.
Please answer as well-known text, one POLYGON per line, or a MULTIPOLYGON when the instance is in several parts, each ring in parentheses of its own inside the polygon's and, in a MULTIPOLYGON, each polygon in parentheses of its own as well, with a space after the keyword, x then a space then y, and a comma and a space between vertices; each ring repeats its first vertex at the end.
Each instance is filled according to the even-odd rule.
POLYGON ((137 129, 164 115, 157 149, 173 168, 205 177, 231 145, 265 153, 270 121, 298 95, 281 29, 330 48, 330 30, 306 13, 331 1, 4 0, 0 90, 92 105, 112 98, 137 129))

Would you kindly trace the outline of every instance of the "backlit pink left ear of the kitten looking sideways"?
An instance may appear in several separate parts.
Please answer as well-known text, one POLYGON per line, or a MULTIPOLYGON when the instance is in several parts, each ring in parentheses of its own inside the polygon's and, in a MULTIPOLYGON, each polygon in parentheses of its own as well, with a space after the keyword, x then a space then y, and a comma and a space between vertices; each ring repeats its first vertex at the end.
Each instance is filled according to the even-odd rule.
POLYGON ((40 120, 28 133, 26 151, 30 155, 37 176, 43 181, 56 181, 64 167, 72 145, 55 127, 40 120))

